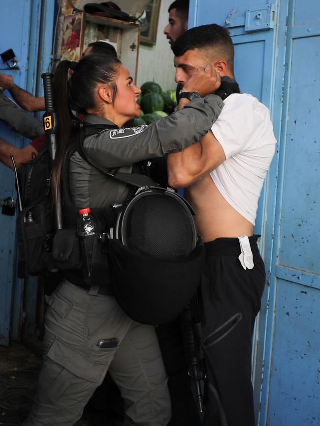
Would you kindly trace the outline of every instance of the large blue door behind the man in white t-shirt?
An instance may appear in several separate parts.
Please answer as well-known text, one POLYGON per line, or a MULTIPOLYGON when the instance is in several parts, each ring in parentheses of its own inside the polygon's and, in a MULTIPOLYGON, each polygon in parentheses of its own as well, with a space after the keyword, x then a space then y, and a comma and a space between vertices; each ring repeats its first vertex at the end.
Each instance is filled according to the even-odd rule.
POLYGON ((238 83, 269 107, 278 140, 255 227, 267 270, 257 425, 320 425, 320 2, 191 0, 189 26, 213 22, 229 28, 238 83))

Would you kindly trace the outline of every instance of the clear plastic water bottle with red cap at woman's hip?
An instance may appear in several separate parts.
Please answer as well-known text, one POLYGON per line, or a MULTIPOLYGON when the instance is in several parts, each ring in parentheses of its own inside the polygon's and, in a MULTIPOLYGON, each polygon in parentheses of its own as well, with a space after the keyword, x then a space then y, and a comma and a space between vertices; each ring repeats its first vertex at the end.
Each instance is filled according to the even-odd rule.
POLYGON ((90 212, 89 207, 80 209, 80 218, 77 224, 82 257, 82 276, 84 282, 88 285, 91 284, 92 253, 96 234, 96 223, 90 212))

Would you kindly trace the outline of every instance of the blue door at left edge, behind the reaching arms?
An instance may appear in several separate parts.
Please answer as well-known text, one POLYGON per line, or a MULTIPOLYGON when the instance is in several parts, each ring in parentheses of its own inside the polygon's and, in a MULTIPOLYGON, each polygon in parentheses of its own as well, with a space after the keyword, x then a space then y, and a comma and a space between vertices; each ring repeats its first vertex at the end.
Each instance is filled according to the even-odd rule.
MULTIPOLYGON (((39 75, 48 70, 50 63, 53 17, 54 1, 15 0, 13 4, 1 0, 0 52, 13 49, 17 68, 9 69, 0 60, 0 72, 12 75, 17 85, 32 93, 37 92, 39 75)), ((10 96, 7 91, 4 93, 10 96)), ((0 137, 17 147, 30 142, 2 123, 0 137)), ((0 164, 0 199, 6 197, 16 197, 14 174, 0 164)), ((17 338, 21 317, 30 320, 35 311, 29 304, 29 312, 22 312, 24 282, 16 278, 15 219, 0 214, 0 344, 8 344, 11 335, 17 338)), ((35 301, 36 294, 28 297, 35 301)))

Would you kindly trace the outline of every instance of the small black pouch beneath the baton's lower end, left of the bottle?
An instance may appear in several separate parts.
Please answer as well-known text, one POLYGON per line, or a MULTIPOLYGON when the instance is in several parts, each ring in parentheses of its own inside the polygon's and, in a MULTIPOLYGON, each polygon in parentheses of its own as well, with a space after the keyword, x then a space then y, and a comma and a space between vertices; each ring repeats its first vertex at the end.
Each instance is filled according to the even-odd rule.
POLYGON ((59 229, 56 232, 52 255, 61 271, 81 268, 79 239, 75 229, 59 229))

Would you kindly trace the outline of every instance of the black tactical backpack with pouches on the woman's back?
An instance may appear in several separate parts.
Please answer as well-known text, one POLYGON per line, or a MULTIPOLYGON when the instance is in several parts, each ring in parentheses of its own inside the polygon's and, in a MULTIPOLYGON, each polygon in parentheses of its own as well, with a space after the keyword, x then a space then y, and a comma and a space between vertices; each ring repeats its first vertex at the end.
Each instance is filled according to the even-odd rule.
MULTIPOLYGON (((76 235, 79 214, 78 209, 71 203, 67 179, 68 161, 62 171, 61 187, 64 227, 58 231, 55 229, 55 211, 50 196, 51 172, 47 141, 37 156, 21 164, 17 170, 22 204, 22 210, 16 220, 17 275, 19 278, 26 278, 28 275, 51 276, 64 271, 65 278, 74 284, 82 285, 82 259, 76 235)), ((92 213, 97 223, 97 234, 113 224, 114 214, 111 208, 92 209, 92 213)), ((96 246, 94 262, 107 263, 105 255, 100 258, 100 246, 96 246)), ((99 267, 95 270, 98 273, 99 267)), ((97 280, 96 274, 93 274, 92 279, 97 280)), ((90 286, 90 283, 86 284, 90 286)))

